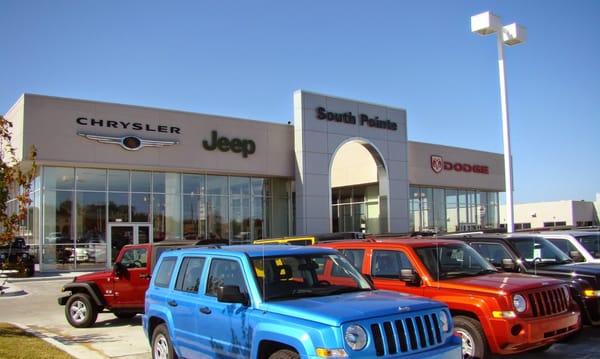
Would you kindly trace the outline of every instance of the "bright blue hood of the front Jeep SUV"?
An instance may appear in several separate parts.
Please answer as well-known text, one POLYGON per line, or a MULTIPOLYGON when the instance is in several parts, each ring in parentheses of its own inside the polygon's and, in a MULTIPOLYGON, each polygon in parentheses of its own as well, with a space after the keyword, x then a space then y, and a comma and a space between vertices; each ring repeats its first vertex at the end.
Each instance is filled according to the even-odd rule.
POLYGON ((443 307, 442 303, 427 298, 386 290, 280 300, 261 305, 267 312, 329 326, 443 307))

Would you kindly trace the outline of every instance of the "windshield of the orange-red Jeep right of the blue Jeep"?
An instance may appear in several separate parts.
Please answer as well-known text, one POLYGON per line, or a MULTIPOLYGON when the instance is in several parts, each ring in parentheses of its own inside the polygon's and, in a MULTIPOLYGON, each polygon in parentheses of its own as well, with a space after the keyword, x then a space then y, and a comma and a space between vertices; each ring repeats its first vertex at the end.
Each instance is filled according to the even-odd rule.
POLYGON ((477 251, 463 243, 416 248, 433 280, 477 276, 497 270, 477 251))

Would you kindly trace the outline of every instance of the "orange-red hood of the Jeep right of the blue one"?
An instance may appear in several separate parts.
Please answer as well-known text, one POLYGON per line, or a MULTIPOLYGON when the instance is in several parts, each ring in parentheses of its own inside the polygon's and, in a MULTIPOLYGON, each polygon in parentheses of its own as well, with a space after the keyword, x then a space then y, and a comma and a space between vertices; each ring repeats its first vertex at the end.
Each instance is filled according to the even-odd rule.
MULTIPOLYGON (((524 290, 557 285, 563 281, 529 274, 498 272, 473 277, 440 281, 440 288, 497 295, 499 292, 516 293, 524 290)), ((433 284, 434 286, 436 283, 433 284)))

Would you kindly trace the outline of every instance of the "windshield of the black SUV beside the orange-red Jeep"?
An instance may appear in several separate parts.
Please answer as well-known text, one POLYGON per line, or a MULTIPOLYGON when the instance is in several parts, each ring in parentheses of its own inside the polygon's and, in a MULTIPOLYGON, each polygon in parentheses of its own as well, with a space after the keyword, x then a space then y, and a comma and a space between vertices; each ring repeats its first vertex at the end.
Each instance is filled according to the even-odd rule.
POLYGON ((572 263, 573 260, 545 238, 512 238, 519 257, 527 266, 572 263))

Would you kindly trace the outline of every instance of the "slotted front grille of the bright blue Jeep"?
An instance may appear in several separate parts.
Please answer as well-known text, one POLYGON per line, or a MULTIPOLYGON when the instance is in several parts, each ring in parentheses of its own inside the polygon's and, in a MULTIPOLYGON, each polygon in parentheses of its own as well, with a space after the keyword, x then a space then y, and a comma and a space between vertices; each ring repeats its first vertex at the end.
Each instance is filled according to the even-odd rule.
POLYGON ((420 351, 442 344, 435 313, 371 324, 377 356, 420 351))

